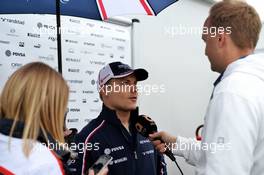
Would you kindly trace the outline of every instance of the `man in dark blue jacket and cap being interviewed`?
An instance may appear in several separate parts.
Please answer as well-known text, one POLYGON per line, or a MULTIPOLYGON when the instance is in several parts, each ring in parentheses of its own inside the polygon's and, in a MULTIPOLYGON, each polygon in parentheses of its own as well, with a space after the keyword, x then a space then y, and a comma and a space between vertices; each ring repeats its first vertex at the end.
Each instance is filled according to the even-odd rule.
POLYGON ((79 155, 78 174, 85 174, 103 154, 113 157, 109 175, 167 174, 163 157, 135 128, 138 114, 137 82, 148 78, 144 69, 132 69, 121 62, 103 67, 98 89, 103 101, 100 115, 77 135, 78 143, 97 145, 79 155))

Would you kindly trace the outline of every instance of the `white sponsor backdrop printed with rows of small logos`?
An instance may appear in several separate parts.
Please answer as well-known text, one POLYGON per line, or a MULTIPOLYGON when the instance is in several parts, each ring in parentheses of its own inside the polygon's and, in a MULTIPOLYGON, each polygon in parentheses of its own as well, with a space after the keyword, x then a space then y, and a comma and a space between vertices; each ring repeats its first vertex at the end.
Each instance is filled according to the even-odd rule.
MULTIPOLYGON (((41 61, 58 69, 54 15, 0 15, 0 91, 22 65, 41 61)), ((68 128, 80 130, 98 116, 99 70, 109 62, 131 65, 131 27, 78 17, 61 17, 62 75, 70 87, 68 128)))

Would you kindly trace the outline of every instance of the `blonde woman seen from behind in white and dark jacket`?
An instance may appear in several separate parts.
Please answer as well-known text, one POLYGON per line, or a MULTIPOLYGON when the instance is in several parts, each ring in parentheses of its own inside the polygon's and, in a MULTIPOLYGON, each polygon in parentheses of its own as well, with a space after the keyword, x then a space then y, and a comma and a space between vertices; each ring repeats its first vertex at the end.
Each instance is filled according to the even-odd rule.
POLYGON ((0 174, 65 174, 52 148, 64 143, 68 94, 62 76, 44 63, 11 75, 0 97, 0 174))

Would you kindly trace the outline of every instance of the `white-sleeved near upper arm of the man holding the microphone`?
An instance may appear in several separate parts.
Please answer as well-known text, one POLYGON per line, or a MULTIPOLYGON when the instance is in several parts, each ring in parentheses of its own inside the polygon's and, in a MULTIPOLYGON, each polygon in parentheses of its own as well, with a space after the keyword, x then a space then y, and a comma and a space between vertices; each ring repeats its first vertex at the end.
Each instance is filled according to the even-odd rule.
POLYGON ((257 105, 233 93, 214 96, 203 131, 198 174, 249 175, 258 137, 257 105))

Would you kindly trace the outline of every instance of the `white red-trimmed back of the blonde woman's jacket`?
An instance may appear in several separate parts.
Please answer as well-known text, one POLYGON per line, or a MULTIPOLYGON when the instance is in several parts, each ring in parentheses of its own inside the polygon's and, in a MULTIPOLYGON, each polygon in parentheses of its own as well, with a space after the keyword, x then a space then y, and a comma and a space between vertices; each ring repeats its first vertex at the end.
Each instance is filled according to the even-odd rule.
MULTIPOLYGON (((64 174, 63 165, 52 148, 32 141, 32 150, 28 157, 23 152, 23 140, 11 138, 8 146, 9 136, 0 135, 1 158, 0 165, 4 166, 14 174, 25 172, 26 174, 64 174), (5 146, 4 146, 5 145, 5 146)), ((23 174, 23 173, 22 173, 23 174)))

